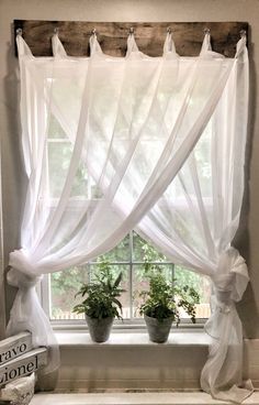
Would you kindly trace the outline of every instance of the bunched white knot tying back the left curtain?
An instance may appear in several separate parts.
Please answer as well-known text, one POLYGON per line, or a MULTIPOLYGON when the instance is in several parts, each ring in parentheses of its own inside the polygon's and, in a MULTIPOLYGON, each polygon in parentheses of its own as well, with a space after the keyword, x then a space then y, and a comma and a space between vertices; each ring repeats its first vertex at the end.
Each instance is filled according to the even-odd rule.
POLYGON ((34 274, 29 253, 25 249, 14 250, 10 253, 9 265, 12 267, 7 275, 8 283, 20 289, 33 288, 42 280, 34 274))

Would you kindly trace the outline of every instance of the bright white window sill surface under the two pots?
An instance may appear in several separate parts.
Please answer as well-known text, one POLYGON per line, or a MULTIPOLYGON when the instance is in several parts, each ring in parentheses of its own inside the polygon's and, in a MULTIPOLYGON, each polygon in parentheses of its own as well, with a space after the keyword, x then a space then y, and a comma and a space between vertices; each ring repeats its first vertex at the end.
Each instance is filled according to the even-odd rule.
POLYGON ((169 339, 166 343, 154 343, 148 339, 147 332, 143 331, 120 331, 111 333, 110 339, 103 343, 95 343, 91 340, 90 335, 85 331, 67 331, 56 332, 56 338, 60 347, 172 347, 172 346, 205 346, 207 347, 211 342, 210 336, 203 330, 185 331, 178 329, 176 332, 169 335, 169 339))

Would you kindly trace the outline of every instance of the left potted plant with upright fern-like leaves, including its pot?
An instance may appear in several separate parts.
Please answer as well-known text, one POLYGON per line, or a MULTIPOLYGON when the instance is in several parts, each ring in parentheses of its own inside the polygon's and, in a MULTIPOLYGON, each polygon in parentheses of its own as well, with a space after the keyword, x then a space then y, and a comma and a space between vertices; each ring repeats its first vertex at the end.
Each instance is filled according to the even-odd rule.
POLYGON ((122 272, 114 277, 111 264, 100 262, 94 281, 83 284, 76 296, 86 298, 74 307, 77 314, 86 314, 89 332, 93 341, 109 339, 114 318, 122 318, 122 304, 117 299, 124 289, 120 288, 122 272), (115 280, 114 280, 115 278, 115 280))

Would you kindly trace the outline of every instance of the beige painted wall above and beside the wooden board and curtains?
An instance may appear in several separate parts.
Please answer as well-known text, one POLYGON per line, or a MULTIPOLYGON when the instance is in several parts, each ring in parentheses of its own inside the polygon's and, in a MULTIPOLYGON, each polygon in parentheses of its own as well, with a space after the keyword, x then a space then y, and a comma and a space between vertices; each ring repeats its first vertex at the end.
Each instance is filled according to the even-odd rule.
MULTIPOLYGON (((251 284, 239 305, 246 336, 259 337, 259 1, 258 0, 0 0, 0 131, 4 262, 19 247, 20 212, 25 178, 19 151, 18 61, 13 56, 14 19, 86 21, 248 21, 251 108, 247 149, 247 189, 236 243, 247 259, 251 284)), ((210 23, 206 24, 210 26, 210 23)), ((212 33, 213 35, 213 33, 212 33)), ((0 288, 1 276, 0 276, 0 288)), ((14 292, 7 289, 7 314, 14 292)), ((3 292, 0 291, 0 330, 3 328, 3 292)))

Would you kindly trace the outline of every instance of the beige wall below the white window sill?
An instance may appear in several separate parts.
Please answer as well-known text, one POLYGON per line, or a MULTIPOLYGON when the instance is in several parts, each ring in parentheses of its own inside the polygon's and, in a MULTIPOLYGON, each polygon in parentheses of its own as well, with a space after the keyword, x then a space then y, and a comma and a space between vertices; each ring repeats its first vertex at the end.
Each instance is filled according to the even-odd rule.
MULTIPOLYGON (((202 343, 204 338, 194 338, 199 332, 185 339, 182 335, 174 331, 167 344, 89 344, 85 333, 77 339, 80 344, 63 344, 59 339, 61 366, 56 390, 200 390, 207 344, 202 343), (183 344, 187 339, 189 344, 183 344)), ((251 379, 258 390, 259 339, 245 340, 244 349, 244 379, 251 379)))

